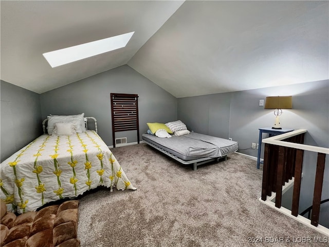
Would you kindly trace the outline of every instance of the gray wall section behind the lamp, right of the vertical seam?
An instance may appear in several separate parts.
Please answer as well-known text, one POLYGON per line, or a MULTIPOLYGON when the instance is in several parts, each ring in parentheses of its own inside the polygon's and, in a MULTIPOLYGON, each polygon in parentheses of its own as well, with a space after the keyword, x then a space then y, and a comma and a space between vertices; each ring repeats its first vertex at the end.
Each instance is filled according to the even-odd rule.
MULTIPOLYGON (((306 129, 305 143, 329 147, 329 80, 323 80, 234 92, 231 99, 230 135, 239 141, 240 149, 258 143, 259 128, 273 125, 273 110, 259 107, 259 100, 276 95, 293 95, 293 109, 283 110, 280 116, 282 128, 306 129)), ((241 152, 257 156, 255 149, 241 152)))

